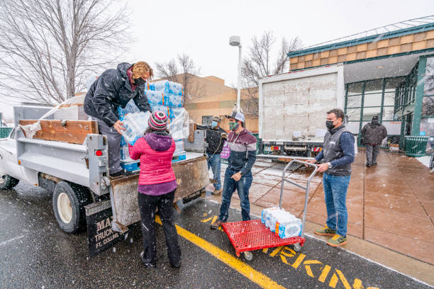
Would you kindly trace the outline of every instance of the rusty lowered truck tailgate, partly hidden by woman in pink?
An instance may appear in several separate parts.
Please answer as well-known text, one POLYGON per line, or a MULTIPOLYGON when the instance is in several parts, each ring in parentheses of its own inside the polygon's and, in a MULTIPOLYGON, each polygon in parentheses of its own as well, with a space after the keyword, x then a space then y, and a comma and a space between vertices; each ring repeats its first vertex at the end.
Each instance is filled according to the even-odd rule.
MULTIPOLYGON (((174 202, 201 191, 209 184, 206 157, 197 157, 198 154, 195 154, 195 157, 189 158, 188 154, 185 161, 172 164, 178 183, 174 202)), ((129 225, 140 221, 137 192, 138 174, 110 180, 113 231, 126 232, 129 225)))

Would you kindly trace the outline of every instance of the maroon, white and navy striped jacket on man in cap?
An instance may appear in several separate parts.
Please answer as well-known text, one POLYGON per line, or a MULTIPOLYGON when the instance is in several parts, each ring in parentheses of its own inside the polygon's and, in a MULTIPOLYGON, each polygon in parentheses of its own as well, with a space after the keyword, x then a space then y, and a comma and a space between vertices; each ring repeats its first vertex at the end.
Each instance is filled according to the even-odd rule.
POLYGON ((228 135, 230 155, 228 167, 233 171, 241 171, 242 175, 250 174, 256 161, 256 137, 244 129, 238 135, 230 132, 228 135))

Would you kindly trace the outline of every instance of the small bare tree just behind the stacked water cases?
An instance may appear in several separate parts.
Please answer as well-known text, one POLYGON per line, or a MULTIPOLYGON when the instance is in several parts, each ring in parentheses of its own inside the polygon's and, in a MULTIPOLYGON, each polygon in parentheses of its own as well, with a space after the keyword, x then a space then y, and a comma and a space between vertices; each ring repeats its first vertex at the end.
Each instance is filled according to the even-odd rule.
POLYGON ((176 60, 172 58, 168 62, 157 62, 155 67, 158 77, 178 82, 184 86, 185 103, 205 93, 205 87, 199 84, 199 81, 194 81, 201 69, 196 67, 189 55, 184 53, 178 55, 176 60))

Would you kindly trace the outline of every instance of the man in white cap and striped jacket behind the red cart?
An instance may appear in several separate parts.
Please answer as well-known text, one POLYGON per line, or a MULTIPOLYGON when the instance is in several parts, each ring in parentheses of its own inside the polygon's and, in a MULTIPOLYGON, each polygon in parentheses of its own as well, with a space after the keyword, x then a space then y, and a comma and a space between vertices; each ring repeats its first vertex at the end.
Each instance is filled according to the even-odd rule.
POLYGON ((226 118, 229 118, 231 130, 228 135, 230 155, 223 183, 220 215, 211 224, 211 229, 217 229, 222 222, 228 220, 230 198, 235 190, 240 197, 243 221, 250 220, 249 190, 253 180, 252 166, 256 161, 256 138, 245 129, 244 114, 241 111, 233 111, 226 118))

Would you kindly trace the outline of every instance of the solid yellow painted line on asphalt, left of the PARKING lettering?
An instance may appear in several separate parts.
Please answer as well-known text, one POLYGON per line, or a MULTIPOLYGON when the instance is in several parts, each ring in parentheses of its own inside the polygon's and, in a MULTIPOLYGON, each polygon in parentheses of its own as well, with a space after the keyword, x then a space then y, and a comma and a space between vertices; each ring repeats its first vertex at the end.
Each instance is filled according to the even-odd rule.
MULTIPOLYGON (((158 215, 155 216, 155 222, 161 225, 161 220, 158 215)), ((191 243, 195 244, 196 246, 199 246, 201 249, 204 249, 204 251, 207 251, 209 254, 216 257, 218 260, 222 261, 226 265, 235 269, 241 275, 245 276, 247 279, 252 280, 252 282, 255 282, 257 285, 260 285, 260 287, 267 288, 267 289, 274 289, 274 288, 284 289, 282 285, 277 284, 274 280, 270 279, 268 276, 265 276, 259 271, 256 271, 254 268, 238 260, 231 254, 226 253, 226 251, 223 251, 222 249, 218 248, 218 246, 215 246, 207 242, 206 240, 202 239, 201 237, 196 236, 195 234, 187 231, 187 229, 179 227, 178 225, 175 226, 177 227, 179 236, 189 240, 191 243)))

